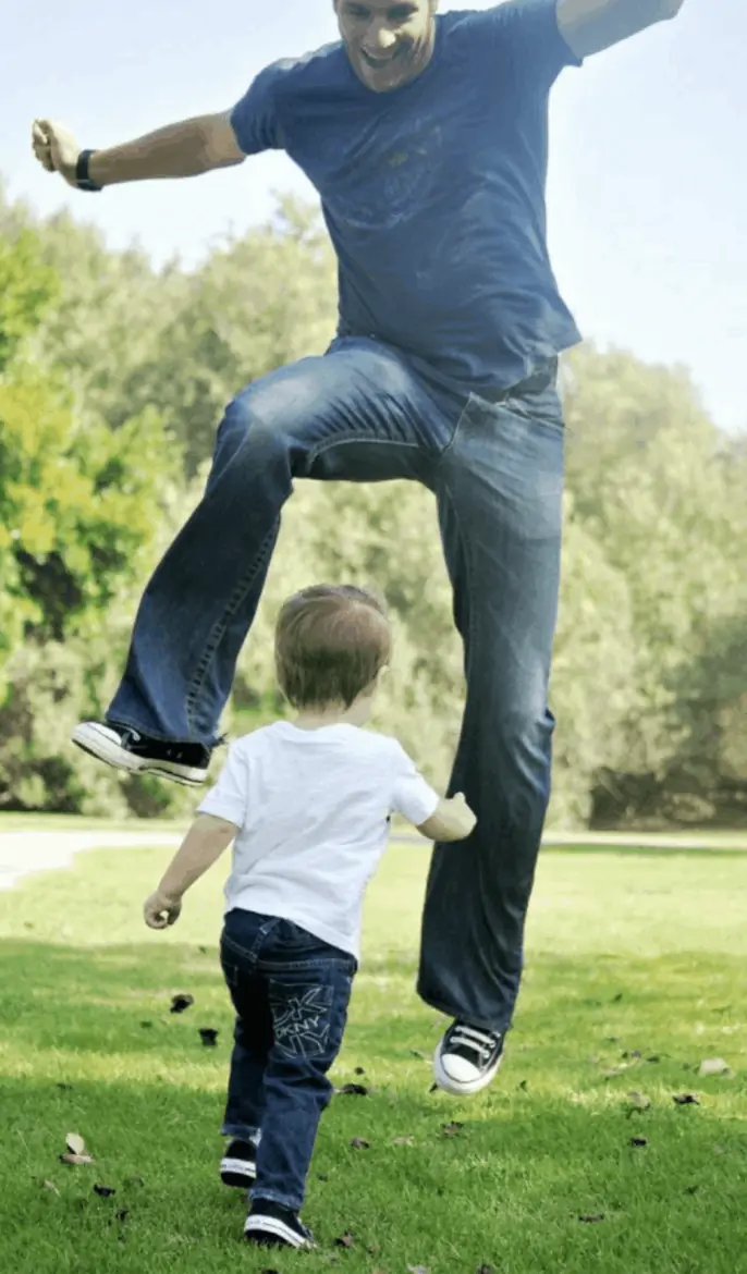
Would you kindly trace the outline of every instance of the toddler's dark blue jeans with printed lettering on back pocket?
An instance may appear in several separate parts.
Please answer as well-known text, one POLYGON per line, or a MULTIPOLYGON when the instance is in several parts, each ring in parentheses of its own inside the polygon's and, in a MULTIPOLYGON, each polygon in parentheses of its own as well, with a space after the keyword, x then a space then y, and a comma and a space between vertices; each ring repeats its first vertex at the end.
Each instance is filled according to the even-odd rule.
POLYGON ((261 1134, 251 1196, 298 1212, 357 961, 289 920, 235 908, 221 963, 237 1014, 222 1131, 261 1134))

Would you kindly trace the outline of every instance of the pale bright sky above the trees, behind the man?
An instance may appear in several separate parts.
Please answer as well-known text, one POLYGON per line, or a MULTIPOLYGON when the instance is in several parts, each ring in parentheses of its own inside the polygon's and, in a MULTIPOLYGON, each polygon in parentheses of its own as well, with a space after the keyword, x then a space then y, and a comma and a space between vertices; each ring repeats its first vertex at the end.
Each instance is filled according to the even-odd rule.
MULTIPOLYGON (((444 0, 444 8, 488 8, 444 0)), ((78 194, 32 158, 31 121, 106 147, 227 108, 266 62, 335 38, 330 0, 34 0, 1 19, 0 175, 65 204, 111 246, 200 259, 273 190, 312 196, 284 155, 190 182, 78 194)), ((586 336, 687 363, 718 424, 747 428, 747 4, 686 0, 676 22, 565 71, 552 107, 551 250, 586 336)))

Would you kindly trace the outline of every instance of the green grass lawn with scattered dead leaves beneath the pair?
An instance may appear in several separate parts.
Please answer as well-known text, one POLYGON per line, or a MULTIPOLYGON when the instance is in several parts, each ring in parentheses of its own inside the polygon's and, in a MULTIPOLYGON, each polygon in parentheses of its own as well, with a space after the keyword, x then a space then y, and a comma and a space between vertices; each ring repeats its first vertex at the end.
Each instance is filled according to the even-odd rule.
POLYGON ((504 1069, 456 1102, 428 1091, 442 1023, 413 994, 427 852, 394 847, 335 1073, 371 1093, 334 1098, 310 1180, 321 1251, 264 1256, 217 1176, 222 873, 154 934, 139 908, 167 857, 87 854, 0 893, 3 1270, 747 1271, 747 856, 546 852, 504 1069), (701 1078, 714 1057, 734 1074, 701 1078), (94 1164, 60 1162, 69 1133, 94 1164))

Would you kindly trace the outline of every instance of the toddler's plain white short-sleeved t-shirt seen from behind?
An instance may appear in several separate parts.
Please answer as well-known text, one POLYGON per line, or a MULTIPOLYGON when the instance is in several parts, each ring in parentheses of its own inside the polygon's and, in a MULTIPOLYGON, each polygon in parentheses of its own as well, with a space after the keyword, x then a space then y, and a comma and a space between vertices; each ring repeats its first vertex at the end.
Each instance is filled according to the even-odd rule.
POLYGON ((363 894, 389 815, 417 827, 437 804, 396 739, 275 721, 232 744, 198 813, 238 828, 226 911, 292 920, 358 959, 363 894))

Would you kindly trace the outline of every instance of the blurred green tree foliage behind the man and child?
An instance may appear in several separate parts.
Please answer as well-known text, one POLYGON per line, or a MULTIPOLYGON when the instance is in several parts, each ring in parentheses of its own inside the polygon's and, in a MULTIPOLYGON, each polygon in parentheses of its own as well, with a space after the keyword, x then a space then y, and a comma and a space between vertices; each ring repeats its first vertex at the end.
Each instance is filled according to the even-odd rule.
MULTIPOLYGON (((317 353, 335 322, 319 222, 284 201, 192 271, 112 252, 0 194, 0 806, 156 814, 194 804, 75 754, 113 692, 139 595, 200 497, 224 404, 317 353)), ((565 361, 567 496, 551 706, 551 820, 737 819, 747 809, 747 442, 683 368, 565 361)), ((444 784, 464 697, 432 496, 297 484, 227 726, 282 712, 272 628, 319 580, 388 600, 377 708, 444 784)))

